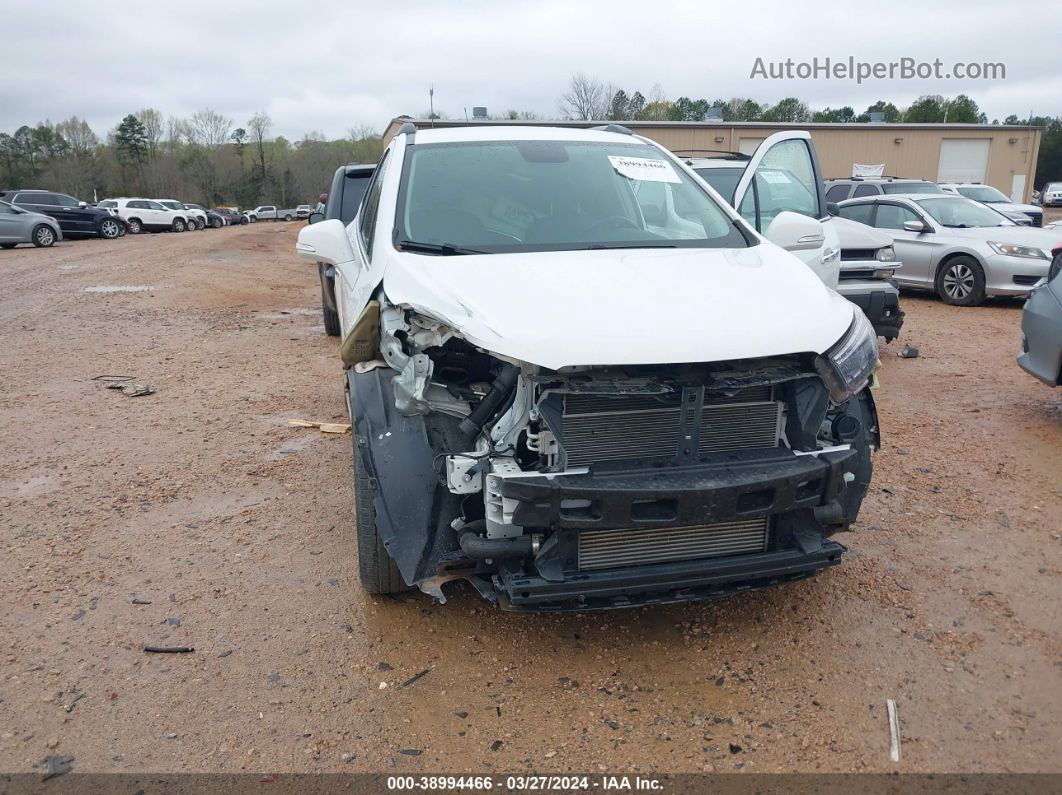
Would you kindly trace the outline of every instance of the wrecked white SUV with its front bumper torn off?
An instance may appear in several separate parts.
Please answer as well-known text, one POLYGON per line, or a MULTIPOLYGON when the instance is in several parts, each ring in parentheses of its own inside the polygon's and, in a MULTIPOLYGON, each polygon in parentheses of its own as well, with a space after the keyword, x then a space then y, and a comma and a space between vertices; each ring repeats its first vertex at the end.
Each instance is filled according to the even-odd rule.
POLYGON ((615 124, 404 124, 296 245, 336 269, 364 587, 586 610, 840 563, 877 343, 822 244, 615 124))

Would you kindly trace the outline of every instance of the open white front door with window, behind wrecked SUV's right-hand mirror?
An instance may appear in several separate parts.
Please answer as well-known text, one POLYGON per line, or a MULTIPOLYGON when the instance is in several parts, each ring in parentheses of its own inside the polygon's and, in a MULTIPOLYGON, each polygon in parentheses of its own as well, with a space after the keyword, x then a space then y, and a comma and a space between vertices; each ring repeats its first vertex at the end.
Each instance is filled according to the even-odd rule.
POLYGON ((810 133, 784 131, 765 139, 738 180, 734 207, 760 235, 766 235, 771 222, 786 210, 819 221, 822 224, 820 245, 793 254, 804 260, 826 287, 837 287, 840 240, 826 212, 822 171, 810 133))

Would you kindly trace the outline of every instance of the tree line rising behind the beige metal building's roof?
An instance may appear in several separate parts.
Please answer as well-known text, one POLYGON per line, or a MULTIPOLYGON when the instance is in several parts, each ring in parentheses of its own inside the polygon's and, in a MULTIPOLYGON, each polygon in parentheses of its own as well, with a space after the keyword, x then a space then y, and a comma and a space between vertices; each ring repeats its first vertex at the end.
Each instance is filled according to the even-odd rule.
MULTIPOLYGON (((761 104, 747 97, 731 99, 669 100, 657 84, 648 96, 635 90, 628 92, 583 73, 573 74, 568 88, 558 100, 558 110, 565 119, 602 121, 704 121, 716 109, 723 122, 769 121, 803 124, 808 122, 869 122, 871 114, 881 114, 881 120, 898 123, 965 123, 987 124, 988 117, 970 97, 959 94, 947 99, 939 94, 920 97, 905 108, 887 100, 868 105, 862 113, 844 105, 812 109, 796 97, 786 97, 774 104, 761 104)), ((992 120, 999 124, 998 119, 992 120)), ((1037 187, 1062 179, 1062 117, 1008 116, 1004 124, 1043 127, 1040 155, 1037 159, 1037 187)))

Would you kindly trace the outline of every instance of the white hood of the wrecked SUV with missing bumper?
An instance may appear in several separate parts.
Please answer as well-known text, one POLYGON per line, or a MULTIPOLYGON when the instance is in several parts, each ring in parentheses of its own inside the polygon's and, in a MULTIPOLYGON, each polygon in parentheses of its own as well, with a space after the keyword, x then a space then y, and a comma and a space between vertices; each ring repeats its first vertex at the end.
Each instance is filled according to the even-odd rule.
POLYGON ((433 257, 395 253, 388 298, 550 369, 821 353, 853 305, 771 243, 433 257))

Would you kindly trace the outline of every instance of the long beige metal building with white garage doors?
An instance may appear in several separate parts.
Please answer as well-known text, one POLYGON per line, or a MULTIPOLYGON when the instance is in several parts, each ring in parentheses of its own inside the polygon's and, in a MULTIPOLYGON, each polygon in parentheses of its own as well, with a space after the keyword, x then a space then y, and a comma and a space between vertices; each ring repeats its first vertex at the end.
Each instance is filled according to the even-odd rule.
MULTIPOLYGON (((432 126, 425 119, 394 119, 384 140, 406 121, 418 128, 432 126)), ((533 124, 539 126, 593 126, 606 122, 571 121, 453 121, 435 120, 434 126, 466 124, 533 124)), ((1028 202, 1035 184, 1040 127, 1006 124, 786 124, 774 122, 632 121, 626 126, 668 149, 724 150, 749 154, 780 129, 807 129, 822 162, 823 175, 852 175, 854 163, 884 163, 885 173, 933 182, 984 183, 1012 201, 1028 202)))

